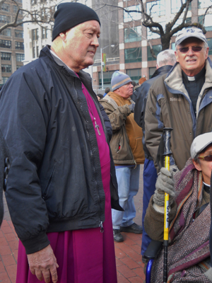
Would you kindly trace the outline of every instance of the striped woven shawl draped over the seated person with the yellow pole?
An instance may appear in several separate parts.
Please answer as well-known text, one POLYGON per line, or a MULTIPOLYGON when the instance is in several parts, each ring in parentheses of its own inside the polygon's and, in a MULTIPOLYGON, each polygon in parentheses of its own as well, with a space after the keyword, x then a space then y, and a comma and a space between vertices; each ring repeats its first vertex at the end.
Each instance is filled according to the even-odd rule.
MULTIPOLYGON (((170 223, 168 246, 167 282, 209 283, 204 275, 208 265, 204 260, 210 256, 209 231, 210 205, 194 220, 196 209, 202 200, 202 175, 196 171, 192 159, 175 175, 177 213, 170 223)), ((163 250, 153 263, 152 282, 163 282, 163 250)))

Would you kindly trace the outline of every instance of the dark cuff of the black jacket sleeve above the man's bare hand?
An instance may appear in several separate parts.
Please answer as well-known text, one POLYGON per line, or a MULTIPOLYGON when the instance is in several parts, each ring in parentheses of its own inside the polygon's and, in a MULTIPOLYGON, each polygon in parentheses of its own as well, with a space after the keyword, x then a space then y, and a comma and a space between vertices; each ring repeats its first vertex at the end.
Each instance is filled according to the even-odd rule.
POLYGON ((20 241, 23 243, 27 255, 46 248, 50 243, 46 232, 41 232, 36 237, 27 240, 20 239, 20 241))

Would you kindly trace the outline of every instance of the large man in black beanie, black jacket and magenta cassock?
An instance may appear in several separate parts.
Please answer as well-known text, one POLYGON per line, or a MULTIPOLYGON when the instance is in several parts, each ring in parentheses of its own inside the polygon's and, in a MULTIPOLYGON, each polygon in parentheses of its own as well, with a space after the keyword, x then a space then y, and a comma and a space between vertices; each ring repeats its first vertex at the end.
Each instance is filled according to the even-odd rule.
POLYGON ((11 150, 6 199, 20 238, 16 283, 116 283, 111 207, 121 209, 109 139, 82 69, 93 64, 100 20, 59 4, 52 46, 1 91, 11 150))

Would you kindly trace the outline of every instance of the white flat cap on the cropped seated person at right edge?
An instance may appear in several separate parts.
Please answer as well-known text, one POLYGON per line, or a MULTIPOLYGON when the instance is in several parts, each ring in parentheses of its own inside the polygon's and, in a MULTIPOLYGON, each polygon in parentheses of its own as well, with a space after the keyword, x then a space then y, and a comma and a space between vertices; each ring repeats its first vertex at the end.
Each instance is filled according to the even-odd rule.
POLYGON ((197 136, 192 142, 190 149, 192 158, 206 149, 209 144, 212 144, 212 132, 200 134, 199 136, 197 136))

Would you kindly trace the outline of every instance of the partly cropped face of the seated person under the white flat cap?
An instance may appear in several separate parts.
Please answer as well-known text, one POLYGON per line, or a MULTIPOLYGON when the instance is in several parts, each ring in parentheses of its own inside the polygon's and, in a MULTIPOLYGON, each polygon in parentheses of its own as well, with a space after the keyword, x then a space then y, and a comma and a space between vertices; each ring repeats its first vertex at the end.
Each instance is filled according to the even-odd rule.
MULTIPOLYGON (((206 148, 206 151, 204 151, 204 153, 202 154, 199 154, 199 156, 204 157, 204 156, 208 156, 211 154, 212 154, 212 145, 208 146, 208 148, 206 148)), ((199 163, 194 163, 194 166, 196 170, 202 172, 204 182, 210 185, 211 184, 212 161, 205 161, 205 160, 199 159, 199 163)))

